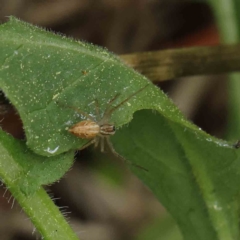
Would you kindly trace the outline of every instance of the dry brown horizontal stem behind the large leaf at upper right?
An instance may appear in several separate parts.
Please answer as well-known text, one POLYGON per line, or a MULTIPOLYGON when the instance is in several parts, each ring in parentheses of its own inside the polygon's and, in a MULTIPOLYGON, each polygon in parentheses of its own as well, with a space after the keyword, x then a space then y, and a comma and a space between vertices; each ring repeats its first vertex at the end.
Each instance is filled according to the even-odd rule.
POLYGON ((240 71, 240 45, 168 49, 121 55, 152 81, 240 71))

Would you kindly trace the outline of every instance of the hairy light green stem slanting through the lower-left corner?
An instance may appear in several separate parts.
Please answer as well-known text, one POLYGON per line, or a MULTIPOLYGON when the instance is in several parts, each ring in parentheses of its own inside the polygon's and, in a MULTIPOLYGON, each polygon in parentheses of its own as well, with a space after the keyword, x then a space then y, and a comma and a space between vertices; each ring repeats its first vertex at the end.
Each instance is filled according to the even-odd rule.
POLYGON ((23 177, 27 177, 27 174, 24 173, 23 168, 19 165, 17 159, 13 157, 13 151, 18 151, 18 156, 20 158, 24 156, 22 155, 24 149, 21 149, 21 146, 18 146, 17 140, 10 139, 10 144, 10 142, 6 141, 10 137, 3 132, 0 132, 0 134, 1 180, 6 184, 13 197, 29 216, 36 229, 42 234, 44 239, 48 240, 78 239, 59 209, 54 205, 53 201, 42 187, 29 196, 23 193, 20 181, 23 177))

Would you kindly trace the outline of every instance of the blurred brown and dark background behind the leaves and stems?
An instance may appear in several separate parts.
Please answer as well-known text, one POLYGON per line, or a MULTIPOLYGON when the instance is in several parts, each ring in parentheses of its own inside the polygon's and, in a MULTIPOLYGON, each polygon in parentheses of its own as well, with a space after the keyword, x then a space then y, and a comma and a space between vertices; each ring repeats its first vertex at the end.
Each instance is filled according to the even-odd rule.
MULTIPOLYGON (((219 44, 213 12, 204 1, 0 0, 1 23, 10 15, 116 54, 219 44)), ((157 83, 189 120, 220 138, 227 124, 226 84, 224 76, 157 83)), ((1 127, 23 139, 19 117, 1 99, 1 127)), ((151 192, 108 153, 81 151, 73 168, 47 190, 83 240, 181 239, 151 192)), ((0 191, 0 239, 40 239, 7 189, 0 191)))

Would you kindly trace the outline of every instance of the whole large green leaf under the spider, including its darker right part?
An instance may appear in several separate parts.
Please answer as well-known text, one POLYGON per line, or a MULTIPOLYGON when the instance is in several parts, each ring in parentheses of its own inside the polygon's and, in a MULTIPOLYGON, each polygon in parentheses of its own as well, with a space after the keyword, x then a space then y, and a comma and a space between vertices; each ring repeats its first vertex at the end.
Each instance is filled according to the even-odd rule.
POLYGON ((0 34, 0 87, 19 111, 33 151, 54 156, 80 148, 86 141, 67 128, 83 116, 68 107, 96 117, 95 99, 102 114, 117 93, 115 106, 149 84, 113 112, 114 148, 173 215, 185 239, 239 238, 240 161, 231 144, 186 121, 157 87, 104 49, 14 18, 0 34), (151 110, 137 112, 126 126, 141 109, 151 110))

